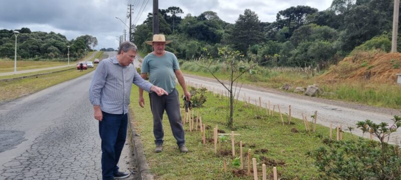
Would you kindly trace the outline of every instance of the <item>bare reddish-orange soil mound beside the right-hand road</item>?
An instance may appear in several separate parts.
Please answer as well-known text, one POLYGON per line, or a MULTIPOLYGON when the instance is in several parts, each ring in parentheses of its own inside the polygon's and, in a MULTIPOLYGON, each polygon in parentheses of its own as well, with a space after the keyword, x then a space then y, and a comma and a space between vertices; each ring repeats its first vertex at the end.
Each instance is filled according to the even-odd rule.
POLYGON ((401 73, 401 53, 360 51, 332 65, 318 79, 334 83, 338 81, 361 81, 372 83, 396 83, 396 73, 401 73))

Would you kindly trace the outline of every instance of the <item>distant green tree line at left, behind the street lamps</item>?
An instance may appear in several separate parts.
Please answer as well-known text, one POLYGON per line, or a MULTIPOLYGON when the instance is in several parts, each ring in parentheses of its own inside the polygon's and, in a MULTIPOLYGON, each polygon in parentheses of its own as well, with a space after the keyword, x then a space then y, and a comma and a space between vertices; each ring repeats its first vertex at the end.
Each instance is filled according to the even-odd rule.
POLYGON ((91 35, 81 35, 75 39, 68 40, 65 35, 60 33, 34 31, 28 27, 21 29, 1 29, 0 30, 0 57, 14 57, 15 36, 13 31, 19 31, 17 36, 17 57, 33 59, 59 59, 63 60, 67 56, 70 46, 70 57, 79 58, 84 56, 85 49, 97 45, 97 38, 91 35))

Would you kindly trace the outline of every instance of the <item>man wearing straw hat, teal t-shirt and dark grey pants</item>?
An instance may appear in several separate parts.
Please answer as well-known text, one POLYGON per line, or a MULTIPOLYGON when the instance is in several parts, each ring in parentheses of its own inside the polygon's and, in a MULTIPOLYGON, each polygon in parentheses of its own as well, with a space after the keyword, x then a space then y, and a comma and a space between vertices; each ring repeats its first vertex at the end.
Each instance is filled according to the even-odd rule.
MULTIPOLYGON (((150 109, 153 114, 153 134, 156 144, 154 151, 161 152, 163 150, 164 132, 162 119, 165 110, 179 150, 188 152, 188 148, 185 146, 184 128, 181 121, 179 97, 178 91, 175 89, 174 75, 177 77, 187 100, 191 98, 191 94, 186 90, 184 76, 179 69, 177 57, 173 53, 164 50, 165 44, 170 42, 171 40, 165 40, 163 34, 154 34, 153 40, 146 41, 147 44, 153 46, 153 51, 143 59, 141 77, 145 79, 147 73, 149 73, 149 81, 168 92, 168 95, 162 96, 149 93, 150 109)), ((143 89, 139 89, 139 105, 144 107, 143 89)))

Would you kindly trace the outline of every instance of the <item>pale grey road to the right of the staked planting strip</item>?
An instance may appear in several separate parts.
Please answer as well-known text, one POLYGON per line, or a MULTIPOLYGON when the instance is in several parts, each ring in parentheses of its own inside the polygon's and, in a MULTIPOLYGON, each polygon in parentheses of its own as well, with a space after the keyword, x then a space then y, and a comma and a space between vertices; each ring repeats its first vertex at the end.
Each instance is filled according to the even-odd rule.
MULTIPOLYGON (((198 84, 198 86, 203 85, 210 90, 214 89, 217 93, 224 90, 223 85, 217 82, 214 78, 198 77, 189 74, 184 74, 184 76, 185 81, 189 81, 192 86, 194 86, 194 84, 198 84)), ((237 90, 237 93, 238 92, 239 91, 237 90)), ((248 98, 250 98, 251 103, 255 104, 256 102, 258 105, 259 97, 261 97, 263 107, 265 107, 265 103, 270 100, 271 108, 273 108, 273 105, 279 104, 283 113, 288 113, 289 105, 291 105, 291 116, 302 118, 302 113, 304 113, 309 121, 312 120, 310 116, 314 114, 315 110, 317 110, 317 123, 325 126, 329 126, 330 123, 332 123, 333 128, 342 125, 343 129, 352 126, 355 127, 353 133, 360 136, 362 136, 362 131, 356 129, 355 124, 357 121, 370 119, 375 123, 387 122, 391 125, 393 124, 393 121, 391 120, 393 115, 401 115, 400 109, 381 108, 357 103, 327 100, 250 85, 242 86, 238 99, 244 100, 244 96, 246 96, 247 101, 248 98)), ((278 109, 276 106, 276 112, 277 111, 278 109)), ((398 129, 398 131, 391 134, 389 140, 390 143, 401 143, 400 131, 401 129, 398 129)), ((364 137, 369 137, 369 135, 364 134, 364 137)))

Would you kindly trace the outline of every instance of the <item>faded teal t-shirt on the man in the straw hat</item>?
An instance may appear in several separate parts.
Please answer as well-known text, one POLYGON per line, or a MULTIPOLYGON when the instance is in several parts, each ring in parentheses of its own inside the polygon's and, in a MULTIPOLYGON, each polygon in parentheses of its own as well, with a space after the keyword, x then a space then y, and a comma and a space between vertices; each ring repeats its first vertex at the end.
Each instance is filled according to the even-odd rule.
POLYGON ((161 57, 149 53, 143 58, 141 73, 149 73, 149 82, 163 88, 168 93, 175 88, 174 70, 179 70, 178 60, 169 51, 166 51, 161 57))

